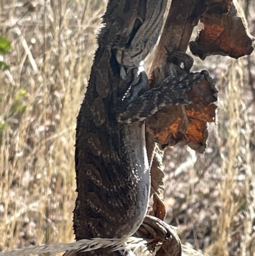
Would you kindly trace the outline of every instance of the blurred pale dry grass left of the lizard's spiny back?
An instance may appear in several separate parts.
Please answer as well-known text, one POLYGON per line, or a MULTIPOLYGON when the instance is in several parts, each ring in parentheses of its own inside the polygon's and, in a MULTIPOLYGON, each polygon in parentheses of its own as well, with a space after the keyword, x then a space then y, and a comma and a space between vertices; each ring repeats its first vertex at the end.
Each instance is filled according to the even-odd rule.
POLYGON ((4 58, 11 70, 0 73, 0 120, 8 126, 0 148, 1 250, 29 245, 20 240, 27 220, 37 244, 73 241, 76 117, 107 1, 87 1, 83 24, 84 2, 52 3, 37 1, 37 11, 20 19, 26 10, 18 1, 1 1, 0 28, 18 20, 4 34, 13 43, 4 58), (20 89, 24 112, 13 110, 20 89))

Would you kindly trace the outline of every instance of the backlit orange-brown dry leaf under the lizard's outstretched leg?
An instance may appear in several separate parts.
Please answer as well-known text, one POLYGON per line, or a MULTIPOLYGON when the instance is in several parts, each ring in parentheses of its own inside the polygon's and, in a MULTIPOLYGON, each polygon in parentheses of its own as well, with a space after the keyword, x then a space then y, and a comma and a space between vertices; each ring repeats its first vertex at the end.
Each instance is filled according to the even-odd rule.
POLYGON ((185 144, 203 153, 208 137, 207 122, 215 121, 217 90, 207 75, 186 93, 193 103, 164 108, 148 119, 150 132, 161 147, 185 144))

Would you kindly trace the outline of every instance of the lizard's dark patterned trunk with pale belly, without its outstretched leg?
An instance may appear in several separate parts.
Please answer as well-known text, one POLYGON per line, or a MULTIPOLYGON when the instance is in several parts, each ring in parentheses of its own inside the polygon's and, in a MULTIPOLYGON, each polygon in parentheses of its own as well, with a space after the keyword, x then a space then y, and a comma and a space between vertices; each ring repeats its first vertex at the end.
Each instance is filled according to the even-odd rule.
MULTIPOLYGON (((151 4, 153 1, 148 2, 151 4)), ((123 63, 118 63, 116 56, 118 52, 125 52, 128 45, 119 50, 118 44, 124 41, 124 37, 126 42, 131 43, 134 34, 139 31, 139 26, 132 28, 132 25, 122 33, 121 13, 130 13, 133 20, 129 21, 135 24, 134 19, 144 22, 147 11, 146 0, 112 0, 109 1, 103 18, 105 27, 99 34, 99 48, 77 118, 75 169, 78 195, 74 210, 77 240, 131 236, 143 222, 147 212, 150 173, 144 124, 140 121, 130 125, 119 123, 115 111, 128 87, 138 77, 134 69, 127 73, 125 79, 120 78, 120 66, 123 63)), ((163 19, 163 15, 157 19, 163 19)), ((155 33, 158 34, 157 31, 155 33)), ((144 45, 140 43, 140 47, 146 50, 145 53, 142 49, 144 57, 154 47, 154 44, 148 46, 147 42, 144 45)), ((138 61, 134 60, 133 63, 135 64, 131 66, 135 66, 138 61)), ((78 253, 131 254, 112 253, 108 249, 78 253)))

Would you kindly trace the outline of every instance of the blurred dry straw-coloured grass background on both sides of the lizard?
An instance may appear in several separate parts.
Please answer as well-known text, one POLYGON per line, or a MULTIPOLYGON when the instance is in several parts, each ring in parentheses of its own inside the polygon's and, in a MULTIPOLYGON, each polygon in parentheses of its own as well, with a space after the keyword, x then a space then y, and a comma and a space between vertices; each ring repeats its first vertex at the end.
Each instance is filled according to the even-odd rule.
MULTIPOLYGON (((0 33, 12 51, 4 56, 10 71, 0 72, 0 251, 73 241, 76 117, 106 2, 1 0, 0 33)), ((166 151, 166 220, 209 255, 252 256, 254 54, 195 59, 194 68, 217 78, 218 124, 209 126, 204 155, 166 151)))

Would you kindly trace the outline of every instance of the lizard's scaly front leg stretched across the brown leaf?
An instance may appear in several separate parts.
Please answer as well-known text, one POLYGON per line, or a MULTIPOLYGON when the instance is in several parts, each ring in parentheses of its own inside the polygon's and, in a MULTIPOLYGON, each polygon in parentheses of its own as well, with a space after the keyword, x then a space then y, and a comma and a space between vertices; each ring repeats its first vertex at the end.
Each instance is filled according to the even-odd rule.
MULTIPOLYGON (((140 77, 142 76, 144 76, 143 72, 140 74, 140 77)), ((205 77, 204 71, 200 73, 183 73, 178 77, 169 76, 163 80, 159 87, 145 91, 145 93, 136 98, 133 97, 127 100, 124 98, 118 109, 118 121, 126 124, 143 121, 163 107, 191 103, 184 98, 184 94, 203 77, 205 77)), ((135 88, 133 91, 135 91, 135 88)))

